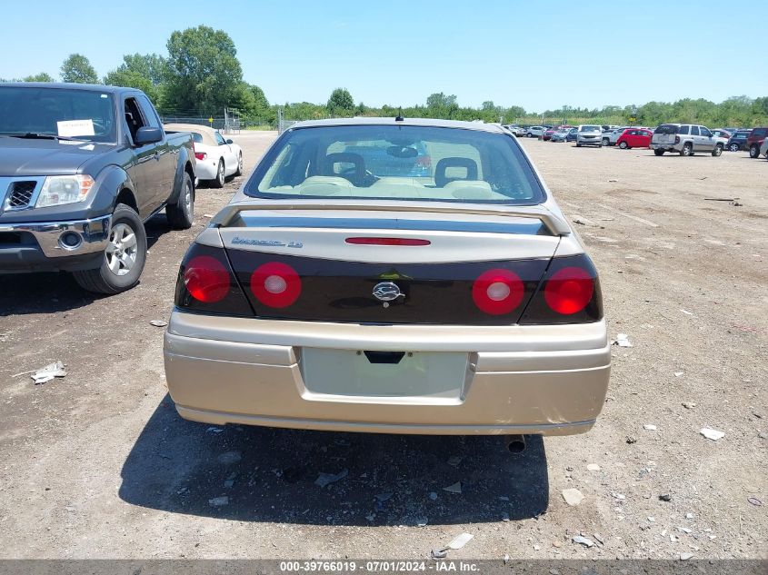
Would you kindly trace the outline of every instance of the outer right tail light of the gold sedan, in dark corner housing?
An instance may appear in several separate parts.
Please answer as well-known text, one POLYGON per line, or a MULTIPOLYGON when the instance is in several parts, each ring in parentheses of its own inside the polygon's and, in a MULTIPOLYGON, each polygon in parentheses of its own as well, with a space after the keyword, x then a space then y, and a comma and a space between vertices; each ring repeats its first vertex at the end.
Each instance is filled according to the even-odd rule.
POLYGON ((588 323, 602 318, 597 270, 581 254, 553 259, 520 323, 588 323))

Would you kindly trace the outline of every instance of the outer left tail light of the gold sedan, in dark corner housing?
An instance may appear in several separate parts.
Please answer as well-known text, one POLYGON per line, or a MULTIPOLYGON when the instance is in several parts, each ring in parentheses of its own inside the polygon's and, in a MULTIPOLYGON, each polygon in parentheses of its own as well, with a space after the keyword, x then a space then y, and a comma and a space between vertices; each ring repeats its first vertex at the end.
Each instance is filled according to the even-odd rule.
POLYGON ((176 307, 193 312, 253 316, 224 249, 193 243, 179 268, 176 307))

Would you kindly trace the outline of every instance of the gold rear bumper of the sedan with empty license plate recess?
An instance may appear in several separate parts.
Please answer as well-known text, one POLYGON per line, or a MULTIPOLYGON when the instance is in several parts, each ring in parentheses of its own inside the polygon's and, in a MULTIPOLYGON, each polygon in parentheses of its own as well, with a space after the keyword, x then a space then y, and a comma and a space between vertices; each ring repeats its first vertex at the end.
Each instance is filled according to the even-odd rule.
POLYGON ((218 425, 581 433, 603 407, 610 363, 604 321, 359 325, 175 311, 165 334, 165 373, 177 410, 218 425), (369 358, 387 353, 403 359, 369 358))

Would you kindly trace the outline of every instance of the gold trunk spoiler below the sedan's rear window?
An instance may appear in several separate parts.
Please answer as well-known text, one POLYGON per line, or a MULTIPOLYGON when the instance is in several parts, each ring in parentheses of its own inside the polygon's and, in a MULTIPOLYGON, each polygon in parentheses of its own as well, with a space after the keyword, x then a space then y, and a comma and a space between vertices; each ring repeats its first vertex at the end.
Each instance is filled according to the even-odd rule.
POLYGON ((359 210, 361 212, 420 212, 420 213, 466 213, 469 215, 493 215, 540 220, 553 235, 568 235, 571 228, 562 218, 550 212, 544 205, 478 205, 449 204, 433 202, 382 202, 370 203, 365 200, 338 201, 323 200, 249 200, 229 203, 211 220, 214 227, 228 227, 234 218, 246 210, 359 210))

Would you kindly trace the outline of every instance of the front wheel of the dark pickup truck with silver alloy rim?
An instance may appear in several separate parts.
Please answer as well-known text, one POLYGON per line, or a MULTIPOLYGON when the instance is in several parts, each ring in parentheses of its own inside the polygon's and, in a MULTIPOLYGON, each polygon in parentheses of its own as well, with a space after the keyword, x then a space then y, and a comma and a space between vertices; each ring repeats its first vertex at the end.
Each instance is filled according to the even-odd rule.
POLYGON ((144 223, 133 208, 118 203, 104 260, 95 270, 73 272, 75 282, 88 292, 119 293, 135 286, 146 262, 144 223))

